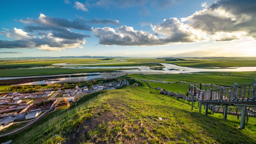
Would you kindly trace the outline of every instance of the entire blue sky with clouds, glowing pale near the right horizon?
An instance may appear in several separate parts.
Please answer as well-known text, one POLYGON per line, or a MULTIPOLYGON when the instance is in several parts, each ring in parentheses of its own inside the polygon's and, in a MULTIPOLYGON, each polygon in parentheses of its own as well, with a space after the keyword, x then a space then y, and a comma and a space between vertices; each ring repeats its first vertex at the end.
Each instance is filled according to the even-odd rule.
POLYGON ((0 0, 0 58, 256 56, 256 0, 0 0))

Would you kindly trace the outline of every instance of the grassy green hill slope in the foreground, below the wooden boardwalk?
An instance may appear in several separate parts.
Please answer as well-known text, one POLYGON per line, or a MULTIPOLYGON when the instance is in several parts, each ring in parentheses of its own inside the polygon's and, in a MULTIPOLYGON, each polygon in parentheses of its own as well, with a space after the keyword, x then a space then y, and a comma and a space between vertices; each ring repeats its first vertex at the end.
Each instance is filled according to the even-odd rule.
POLYGON ((156 89, 122 86, 84 96, 68 109, 49 114, 39 123, 0 142, 13 144, 88 143, 247 143, 256 141, 255 119, 245 129, 222 114, 205 116, 195 107, 156 89), (162 120, 159 120, 159 117, 162 120))

